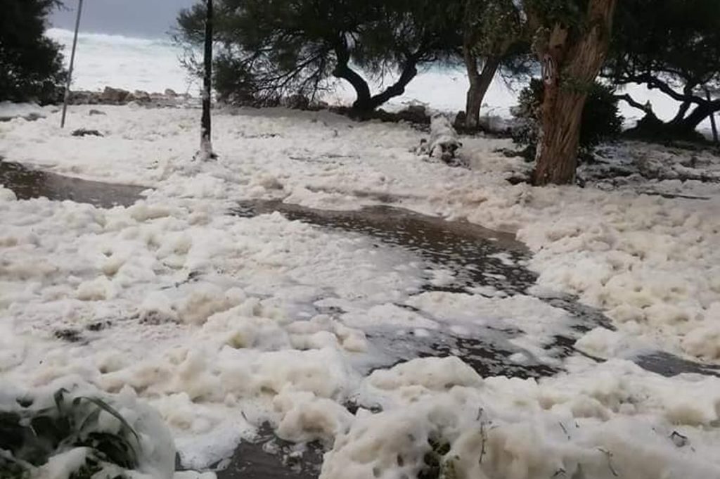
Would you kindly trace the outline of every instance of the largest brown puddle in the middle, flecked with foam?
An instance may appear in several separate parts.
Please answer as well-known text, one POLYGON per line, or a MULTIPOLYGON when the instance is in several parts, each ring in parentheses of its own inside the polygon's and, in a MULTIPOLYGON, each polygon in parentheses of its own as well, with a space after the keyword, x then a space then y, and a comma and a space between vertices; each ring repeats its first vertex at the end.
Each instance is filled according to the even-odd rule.
POLYGON ((332 211, 259 201, 242 202, 232 213, 250 218, 275 211, 289 220, 362 233, 384 244, 401 246, 439 269, 454 273, 451 282, 442 287, 428 285, 427 290, 472 292, 472 288, 489 286, 509 295, 527 294, 536 280, 536 274, 521 266, 530 259, 523 243, 508 233, 472 223, 446 221, 384 205, 359 211, 332 211), (493 256, 498 254, 502 256, 493 256))

